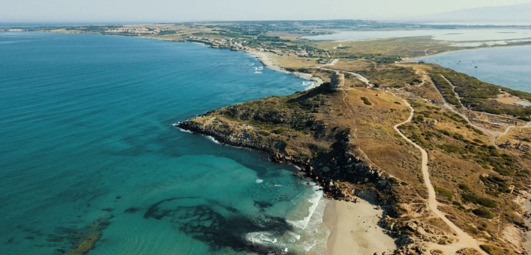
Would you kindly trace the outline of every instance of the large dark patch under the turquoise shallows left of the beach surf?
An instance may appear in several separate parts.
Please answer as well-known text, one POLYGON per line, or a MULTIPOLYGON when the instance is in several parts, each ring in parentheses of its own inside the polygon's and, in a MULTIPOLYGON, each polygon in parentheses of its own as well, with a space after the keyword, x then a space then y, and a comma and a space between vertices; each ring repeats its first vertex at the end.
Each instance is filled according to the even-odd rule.
MULTIPOLYGON (((162 220, 167 218, 175 224, 180 231, 192 236, 193 239, 204 242, 211 250, 230 248, 236 252, 257 254, 293 254, 282 249, 265 244, 255 244, 246 240, 245 236, 252 232, 267 231, 273 235, 286 234, 293 231, 292 225, 284 218, 268 215, 249 217, 238 210, 218 203, 196 206, 180 206, 172 201, 185 198, 168 198, 153 204, 144 214, 144 218, 162 220), (215 207, 227 210, 229 213, 221 214, 215 207)), ((261 208, 271 207, 272 204, 255 201, 255 206, 261 208)))

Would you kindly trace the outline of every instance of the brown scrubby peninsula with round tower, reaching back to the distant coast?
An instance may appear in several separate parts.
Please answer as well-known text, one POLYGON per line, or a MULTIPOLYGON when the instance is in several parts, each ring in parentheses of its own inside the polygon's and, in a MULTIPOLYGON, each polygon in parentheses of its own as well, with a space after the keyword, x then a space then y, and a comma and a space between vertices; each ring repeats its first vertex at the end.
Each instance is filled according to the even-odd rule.
POLYGON ((246 51, 265 66, 314 80, 313 89, 211 110, 178 127, 297 165, 295 178, 314 180, 327 198, 372 201, 383 210, 378 224, 395 239, 395 254, 528 253, 528 213, 520 203, 531 185, 531 93, 409 61, 528 45, 531 38, 502 46, 431 36, 303 38, 344 30, 471 29, 355 20, 11 29, 199 42, 246 51))

